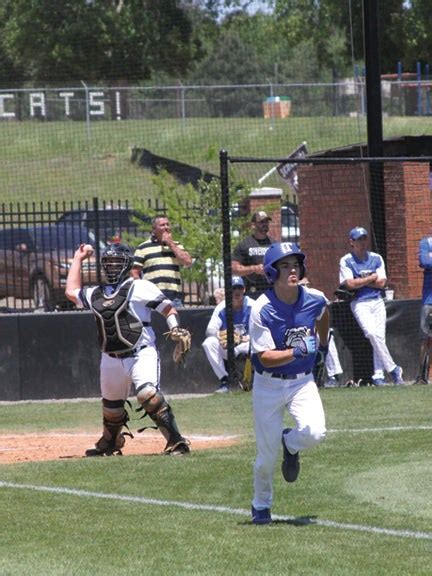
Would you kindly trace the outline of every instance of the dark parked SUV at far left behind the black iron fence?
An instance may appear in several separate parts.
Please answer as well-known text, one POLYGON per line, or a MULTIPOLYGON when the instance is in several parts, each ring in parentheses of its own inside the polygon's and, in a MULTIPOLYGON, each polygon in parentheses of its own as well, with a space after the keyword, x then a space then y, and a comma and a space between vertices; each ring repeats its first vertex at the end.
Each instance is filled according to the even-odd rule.
MULTIPOLYGON (((13 308, 51 311, 70 307, 64 294, 66 277, 81 243, 93 244, 82 226, 60 223, 0 229, 0 298, 12 299, 13 308), (21 306, 17 299, 23 301, 21 306)), ((99 247, 103 249, 104 244, 99 247)), ((93 255, 83 262, 83 284, 95 284, 97 276, 93 255)))

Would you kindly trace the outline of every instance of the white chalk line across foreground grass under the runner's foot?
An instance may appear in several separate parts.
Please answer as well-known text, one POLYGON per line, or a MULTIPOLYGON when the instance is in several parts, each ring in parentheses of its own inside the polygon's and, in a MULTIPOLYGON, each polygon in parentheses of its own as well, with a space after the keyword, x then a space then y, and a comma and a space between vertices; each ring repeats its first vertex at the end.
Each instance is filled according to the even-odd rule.
MULTIPOLYGON (((14 490, 33 490, 35 492, 48 492, 51 494, 65 494, 68 496, 78 496, 81 498, 100 498, 105 500, 117 500, 121 502, 133 502, 138 504, 149 504, 152 506, 169 506, 182 508, 184 510, 198 510, 205 512, 219 512, 222 514, 235 514, 237 516, 250 516, 250 511, 243 508, 230 508, 229 506, 215 506, 211 504, 196 504, 193 502, 177 502, 175 500, 156 500, 154 498, 143 498, 142 496, 123 496, 122 494, 105 494, 103 492, 90 492, 88 490, 77 490, 73 488, 61 488, 55 486, 36 486, 34 484, 16 484, 14 482, 3 482, 0 480, 0 488, 10 488, 14 490)), ((367 532, 369 534, 380 534, 383 536, 396 536, 398 538, 411 538, 415 540, 432 540, 432 532, 416 532, 413 530, 396 530, 393 528, 378 528, 376 526, 363 526, 361 524, 344 524, 332 520, 320 520, 316 518, 296 518, 295 516, 272 515, 274 520, 289 522, 296 525, 323 526, 325 528, 335 528, 337 530, 353 530, 356 532, 367 532)))

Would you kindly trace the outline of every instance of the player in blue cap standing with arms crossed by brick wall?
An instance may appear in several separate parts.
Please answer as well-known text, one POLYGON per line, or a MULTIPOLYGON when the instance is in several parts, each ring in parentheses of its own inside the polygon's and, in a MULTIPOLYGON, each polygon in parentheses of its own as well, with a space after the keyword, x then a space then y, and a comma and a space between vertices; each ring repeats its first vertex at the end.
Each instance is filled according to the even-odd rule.
POLYGON ((394 362, 386 344, 387 313, 382 298, 387 283, 384 260, 368 250, 369 235, 365 228, 353 228, 349 242, 351 252, 345 254, 339 263, 339 283, 342 288, 354 291, 351 311, 372 345, 372 383, 383 386, 384 373, 388 372, 394 384, 403 384, 402 368, 394 362))

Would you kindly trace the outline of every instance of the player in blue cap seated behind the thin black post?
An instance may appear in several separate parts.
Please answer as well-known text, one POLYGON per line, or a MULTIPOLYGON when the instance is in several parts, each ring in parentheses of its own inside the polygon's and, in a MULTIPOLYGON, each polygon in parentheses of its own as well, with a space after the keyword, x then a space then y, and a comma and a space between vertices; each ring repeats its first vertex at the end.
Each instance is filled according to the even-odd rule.
MULTIPOLYGON (((243 278, 232 277, 232 309, 234 324, 234 355, 249 354, 249 317, 252 300, 245 296, 243 278)), ((213 310, 207 325, 206 339, 202 346, 207 360, 219 379, 217 393, 229 392, 228 373, 224 360, 227 359, 226 303, 222 300, 213 310)))

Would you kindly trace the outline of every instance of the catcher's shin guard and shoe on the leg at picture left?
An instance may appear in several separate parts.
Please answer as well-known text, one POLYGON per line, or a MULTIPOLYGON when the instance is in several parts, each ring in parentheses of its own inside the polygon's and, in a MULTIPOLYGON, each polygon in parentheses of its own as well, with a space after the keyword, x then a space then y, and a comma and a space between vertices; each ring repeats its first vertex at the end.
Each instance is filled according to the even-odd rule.
POLYGON ((121 449, 125 445, 125 434, 132 437, 130 432, 122 432, 127 427, 129 415, 124 407, 124 400, 106 400, 102 398, 103 432, 94 448, 86 450, 86 456, 113 456, 122 455, 121 449))

